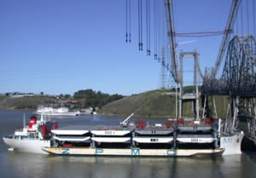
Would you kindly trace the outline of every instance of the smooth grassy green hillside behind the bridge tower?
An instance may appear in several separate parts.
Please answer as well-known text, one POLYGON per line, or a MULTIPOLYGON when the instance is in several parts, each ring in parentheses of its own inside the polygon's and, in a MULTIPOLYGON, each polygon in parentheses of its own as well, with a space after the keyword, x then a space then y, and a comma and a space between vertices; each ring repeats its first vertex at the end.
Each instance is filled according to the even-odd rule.
MULTIPOLYGON (((138 95, 131 95, 120 100, 115 100, 103 106, 102 114, 109 115, 124 115, 129 116, 136 111, 139 106, 142 106, 145 101, 149 100, 148 104, 137 112, 137 116, 145 117, 170 117, 175 118, 175 93, 170 90, 153 90, 144 92, 138 95)), ((212 104, 212 96, 208 97, 208 111, 212 116, 215 116, 212 104)), ((215 96, 218 117, 224 117, 227 108, 226 96, 215 96)), ((200 106, 201 105, 201 99, 200 106)), ((202 112, 202 109, 201 111, 202 112)), ((193 117, 193 104, 191 101, 183 103, 183 116, 193 117)))

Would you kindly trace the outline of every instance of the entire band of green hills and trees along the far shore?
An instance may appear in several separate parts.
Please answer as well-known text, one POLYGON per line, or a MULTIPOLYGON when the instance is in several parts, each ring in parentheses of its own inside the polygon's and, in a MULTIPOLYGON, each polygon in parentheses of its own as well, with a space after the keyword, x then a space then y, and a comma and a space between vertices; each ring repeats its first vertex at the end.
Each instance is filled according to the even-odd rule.
MULTIPOLYGON (((188 87, 186 92, 192 92, 192 88, 188 87)), ((44 94, 44 93, 43 93, 44 94)), ((199 100, 201 108, 203 103, 199 100)), ((36 109, 39 105, 50 105, 56 103, 58 100, 81 100, 82 103, 71 103, 69 106, 76 109, 87 108, 89 106, 102 108, 100 113, 109 115, 125 115, 129 116, 135 112, 137 108, 143 105, 147 100, 149 102, 138 111, 137 116, 149 117, 170 117, 175 118, 175 89, 159 89, 144 92, 138 95, 131 95, 124 97, 122 95, 108 95, 101 91, 94 91, 92 89, 79 90, 74 95, 34 95, 26 97, 12 97, 11 95, 0 95, 0 109, 36 109)), ((228 96, 215 96, 215 103, 219 118, 224 118, 228 107, 228 96)), ((65 104, 67 105, 67 104, 65 104)), ((68 105, 67 105, 68 106, 68 105)), ((207 111, 208 116, 215 117, 213 107, 213 97, 208 96, 207 111)), ((200 110, 202 113, 202 109, 200 110)), ((201 114, 200 113, 200 114, 201 114)), ((183 116, 193 117, 192 101, 183 103, 183 116)))

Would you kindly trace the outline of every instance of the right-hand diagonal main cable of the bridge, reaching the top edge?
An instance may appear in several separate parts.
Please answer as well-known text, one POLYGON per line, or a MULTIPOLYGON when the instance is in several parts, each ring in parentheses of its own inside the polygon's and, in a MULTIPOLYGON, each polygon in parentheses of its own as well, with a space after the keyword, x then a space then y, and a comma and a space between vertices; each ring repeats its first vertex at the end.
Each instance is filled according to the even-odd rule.
POLYGON ((224 37, 222 39, 220 49, 218 51, 218 58, 216 60, 215 66, 212 71, 211 80, 216 77, 220 63, 223 60, 224 53, 227 49, 227 46, 228 46, 228 43, 230 40, 230 33, 233 31, 234 22, 236 20, 236 14, 238 12, 241 0, 232 0, 232 2, 233 3, 232 3, 231 10, 230 10, 229 19, 228 19, 228 22, 227 22, 227 25, 225 28, 224 37))

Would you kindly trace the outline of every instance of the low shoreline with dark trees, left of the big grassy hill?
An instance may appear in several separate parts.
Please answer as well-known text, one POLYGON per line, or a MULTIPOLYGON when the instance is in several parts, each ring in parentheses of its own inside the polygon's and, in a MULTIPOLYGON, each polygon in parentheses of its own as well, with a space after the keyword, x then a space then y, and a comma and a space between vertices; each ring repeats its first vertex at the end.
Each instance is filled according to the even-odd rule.
POLYGON ((101 91, 94 91, 92 89, 79 90, 74 93, 74 95, 58 95, 58 96, 49 96, 44 95, 44 92, 40 93, 41 95, 32 95, 32 96, 23 96, 18 97, 7 93, 7 95, 0 95, 0 109, 37 109, 40 105, 50 105, 55 104, 58 100, 81 100, 82 104, 67 104, 65 106, 72 106, 76 109, 83 109, 87 107, 102 107, 113 100, 119 100, 123 98, 123 95, 108 95, 104 94, 101 91))

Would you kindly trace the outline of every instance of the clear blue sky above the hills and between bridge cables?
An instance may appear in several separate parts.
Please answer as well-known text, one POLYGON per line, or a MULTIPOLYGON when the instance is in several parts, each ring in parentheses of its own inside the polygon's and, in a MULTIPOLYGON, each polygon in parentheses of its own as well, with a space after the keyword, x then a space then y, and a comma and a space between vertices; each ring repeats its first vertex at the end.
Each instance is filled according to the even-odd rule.
MULTIPOLYGON (((232 2, 173 1, 177 32, 223 31, 232 2)), ((163 3, 160 9, 164 14, 163 3)), ((0 23, 0 93, 132 95, 159 87, 160 64, 138 50, 137 0, 131 0, 131 43, 125 43, 125 0, 0 0, 0 23)), ((153 32, 151 38, 153 51, 153 32)), ((202 71, 214 65, 221 37, 177 37, 188 41, 177 51, 196 49, 202 71)))

